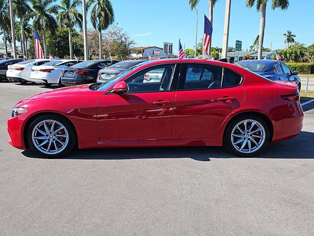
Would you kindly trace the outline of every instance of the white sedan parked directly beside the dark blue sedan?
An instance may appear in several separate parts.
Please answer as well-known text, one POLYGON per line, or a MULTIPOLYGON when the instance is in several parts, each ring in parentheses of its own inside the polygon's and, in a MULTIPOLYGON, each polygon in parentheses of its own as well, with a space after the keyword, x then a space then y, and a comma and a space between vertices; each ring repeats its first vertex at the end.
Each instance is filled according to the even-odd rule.
POLYGON ((33 66, 31 68, 30 80, 34 83, 44 83, 46 86, 52 84, 61 85, 60 75, 64 67, 70 67, 77 64, 77 60, 61 59, 52 60, 43 65, 33 66))

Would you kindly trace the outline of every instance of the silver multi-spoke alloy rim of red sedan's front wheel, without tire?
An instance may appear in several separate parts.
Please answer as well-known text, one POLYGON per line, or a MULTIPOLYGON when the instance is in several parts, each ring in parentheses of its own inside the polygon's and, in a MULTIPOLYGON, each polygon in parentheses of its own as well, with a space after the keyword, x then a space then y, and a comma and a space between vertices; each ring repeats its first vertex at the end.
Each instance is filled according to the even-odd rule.
POLYGON ((31 138, 34 146, 45 154, 57 154, 69 143, 68 130, 53 119, 46 119, 36 124, 31 138))

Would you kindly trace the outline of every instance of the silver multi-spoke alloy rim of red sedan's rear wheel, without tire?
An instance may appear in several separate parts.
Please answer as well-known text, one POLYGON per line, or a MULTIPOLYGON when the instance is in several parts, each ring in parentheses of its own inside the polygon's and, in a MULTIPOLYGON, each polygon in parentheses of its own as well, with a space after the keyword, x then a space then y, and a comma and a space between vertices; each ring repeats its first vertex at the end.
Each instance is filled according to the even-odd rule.
POLYGON ((264 127, 253 119, 240 121, 231 132, 232 145, 242 153, 252 153, 260 149, 265 137, 264 127))

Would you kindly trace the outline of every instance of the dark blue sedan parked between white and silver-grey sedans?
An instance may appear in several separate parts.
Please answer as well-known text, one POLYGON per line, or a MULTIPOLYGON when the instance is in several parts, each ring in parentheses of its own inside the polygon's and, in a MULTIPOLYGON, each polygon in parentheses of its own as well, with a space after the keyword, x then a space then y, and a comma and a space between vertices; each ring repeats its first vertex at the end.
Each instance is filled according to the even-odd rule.
POLYGON ((61 83, 65 86, 95 83, 98 71, 117 63, 116 60, 86 60, 71 67, 65 67, 61 83))

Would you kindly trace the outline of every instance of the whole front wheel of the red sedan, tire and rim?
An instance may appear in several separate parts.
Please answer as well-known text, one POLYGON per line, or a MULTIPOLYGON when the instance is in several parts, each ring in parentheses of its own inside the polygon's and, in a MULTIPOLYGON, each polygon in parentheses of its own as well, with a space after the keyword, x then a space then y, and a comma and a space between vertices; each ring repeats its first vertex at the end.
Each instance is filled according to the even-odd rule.
POLYGON ((29 147, 45 157, 60 157, 75 146, 76 135, 71 123, 65 118, 43 115, 35 118, 27 131, 29 147))

